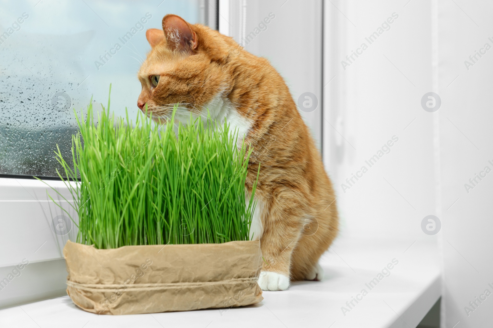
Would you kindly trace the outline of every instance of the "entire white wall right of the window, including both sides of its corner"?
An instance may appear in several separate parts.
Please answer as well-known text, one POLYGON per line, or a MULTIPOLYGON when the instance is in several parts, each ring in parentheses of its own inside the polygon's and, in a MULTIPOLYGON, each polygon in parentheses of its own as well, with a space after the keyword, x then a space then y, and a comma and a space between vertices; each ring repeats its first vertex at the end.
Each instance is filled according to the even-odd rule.
POLYGON ((493 293, 493 173, 477 179, 469 192, 464 184, 486 166, 493 170, 493 50, 469 69, 464 60, 485 43, 493 47, 493 3, 332 3, 325 11, 330 21, 324 71, 324 81, 335 76, 324 89, 324 118, 332 126, 326 125, 323 138, 324 161, 338 193, 340 238, 436 240, 443 267, 442 327, 488 327, 493 296, 476 301, 475 308, 469 302, 487 289, 493 293), (390 30, 368 44, 364 38, 393 12, 399 17, 390 30), (341 60, 362 42, 368 49, 344 70, 341 60), (442 101, 432 113, 421 105, 430 91, 442 101), (391 151, 344 192, 341 184, 393 135, 399 141, 391 151), (421 228, 429 214, 442 223, 435 236, 421 228), (474 312, 466 313, 465 306, 474 312))

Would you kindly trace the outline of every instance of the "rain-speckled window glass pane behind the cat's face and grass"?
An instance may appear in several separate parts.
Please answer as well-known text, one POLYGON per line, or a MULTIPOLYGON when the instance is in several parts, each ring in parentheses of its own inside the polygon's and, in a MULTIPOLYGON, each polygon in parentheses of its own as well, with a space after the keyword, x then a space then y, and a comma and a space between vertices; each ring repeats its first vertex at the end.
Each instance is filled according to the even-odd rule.
MULTIPOLYGON (((201 0, 0 1, 0 174, 56 176, 71 158, 73 108, 107 104, 135 117, 145 30, 174 13, 207 24, 201 0)), ((211 9, 214 10, 214 9, 211 9)))

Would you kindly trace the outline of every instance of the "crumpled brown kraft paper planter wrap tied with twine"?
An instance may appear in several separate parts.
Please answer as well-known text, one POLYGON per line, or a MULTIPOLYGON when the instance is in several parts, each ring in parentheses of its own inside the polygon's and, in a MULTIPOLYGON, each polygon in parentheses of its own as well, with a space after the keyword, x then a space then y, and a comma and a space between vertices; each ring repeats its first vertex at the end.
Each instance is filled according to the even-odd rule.
POLYGON ((260 242, 96 249, 71 242, 67 293, 98 314, 188 311, 260 302, 260 242))

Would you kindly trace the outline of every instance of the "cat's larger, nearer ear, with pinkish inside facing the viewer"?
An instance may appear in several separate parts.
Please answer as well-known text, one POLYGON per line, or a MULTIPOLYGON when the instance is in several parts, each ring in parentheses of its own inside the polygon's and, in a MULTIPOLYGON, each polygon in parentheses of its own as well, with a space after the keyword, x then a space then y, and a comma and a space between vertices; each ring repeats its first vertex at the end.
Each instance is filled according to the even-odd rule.
POLYGON ((183 18, 173 14, 164 16, 163 31, 170 48, 185 52, 197 49, 197 34, 183 18))

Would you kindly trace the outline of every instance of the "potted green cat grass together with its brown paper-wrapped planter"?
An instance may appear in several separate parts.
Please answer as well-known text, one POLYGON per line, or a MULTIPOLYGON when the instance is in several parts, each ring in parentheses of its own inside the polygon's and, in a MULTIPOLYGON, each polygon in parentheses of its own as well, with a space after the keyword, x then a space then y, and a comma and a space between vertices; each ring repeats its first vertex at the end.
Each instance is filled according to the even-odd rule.
POLYGON ((56 155, 78 214, 77 240, 63 250, 78 307, 137 314, 263 299, 260 244, 248 240, 250 152, 226 124, 198 119, 176 136, 141 115, 135 126, 128 114, 114 119, 109 102, 97 121, 89 105, 77 123, 73 168, 56 155))

